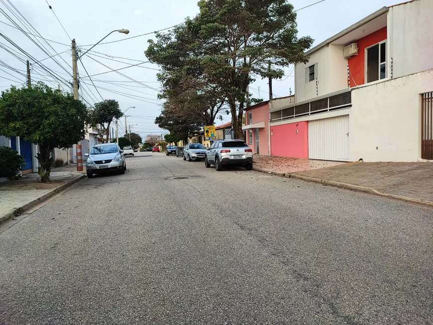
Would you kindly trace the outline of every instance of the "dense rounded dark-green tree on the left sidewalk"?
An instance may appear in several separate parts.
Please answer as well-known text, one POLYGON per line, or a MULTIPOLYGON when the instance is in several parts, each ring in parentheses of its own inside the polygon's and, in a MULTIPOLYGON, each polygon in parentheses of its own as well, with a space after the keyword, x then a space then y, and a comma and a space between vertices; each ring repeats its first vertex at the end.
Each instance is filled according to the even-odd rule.
POLYGON ((83 103, 43 83, 11 87, 0 96, 0 135, 38 144, 36 158, 43 183, 50 180, 54 148, 70 148, 84 139, 87 122, 83 103))

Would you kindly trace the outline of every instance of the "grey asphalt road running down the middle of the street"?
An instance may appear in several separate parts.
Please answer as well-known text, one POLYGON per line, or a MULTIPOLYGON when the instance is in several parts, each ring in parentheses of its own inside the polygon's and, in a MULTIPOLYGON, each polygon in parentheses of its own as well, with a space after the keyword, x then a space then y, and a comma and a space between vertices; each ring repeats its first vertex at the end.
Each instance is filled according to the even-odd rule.
POLYGON ((0 227, 0 324, 433 324, 432 209, 163 153, 127 167, 0 227))

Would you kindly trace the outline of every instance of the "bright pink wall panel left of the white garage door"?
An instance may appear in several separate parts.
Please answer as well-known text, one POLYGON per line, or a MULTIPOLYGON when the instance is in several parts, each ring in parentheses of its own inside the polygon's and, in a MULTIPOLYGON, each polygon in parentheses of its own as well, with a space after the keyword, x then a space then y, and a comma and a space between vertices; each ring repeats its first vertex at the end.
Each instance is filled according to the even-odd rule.
POLYGON ((271 155, 308 158, 308 122, 271 126, 271 155))

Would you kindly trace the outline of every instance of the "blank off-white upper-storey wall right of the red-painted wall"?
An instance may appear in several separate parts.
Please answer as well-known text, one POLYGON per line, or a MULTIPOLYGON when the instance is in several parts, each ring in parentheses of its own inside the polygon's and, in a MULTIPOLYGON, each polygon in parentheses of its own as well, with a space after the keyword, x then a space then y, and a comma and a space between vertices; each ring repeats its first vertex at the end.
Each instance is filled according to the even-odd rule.
POLYGON ((433 68, 433 0, 389 8, 388 39, 393 78, 433 68))

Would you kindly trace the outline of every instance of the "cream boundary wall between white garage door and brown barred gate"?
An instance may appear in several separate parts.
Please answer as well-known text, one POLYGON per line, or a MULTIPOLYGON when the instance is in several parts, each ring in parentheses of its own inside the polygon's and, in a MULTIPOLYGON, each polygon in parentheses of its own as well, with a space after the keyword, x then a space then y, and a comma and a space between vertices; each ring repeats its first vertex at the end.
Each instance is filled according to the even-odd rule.
POLYGON ((353 89, 349 161, 417 161, 420 94, 432 91, 433 69, 353 89))

